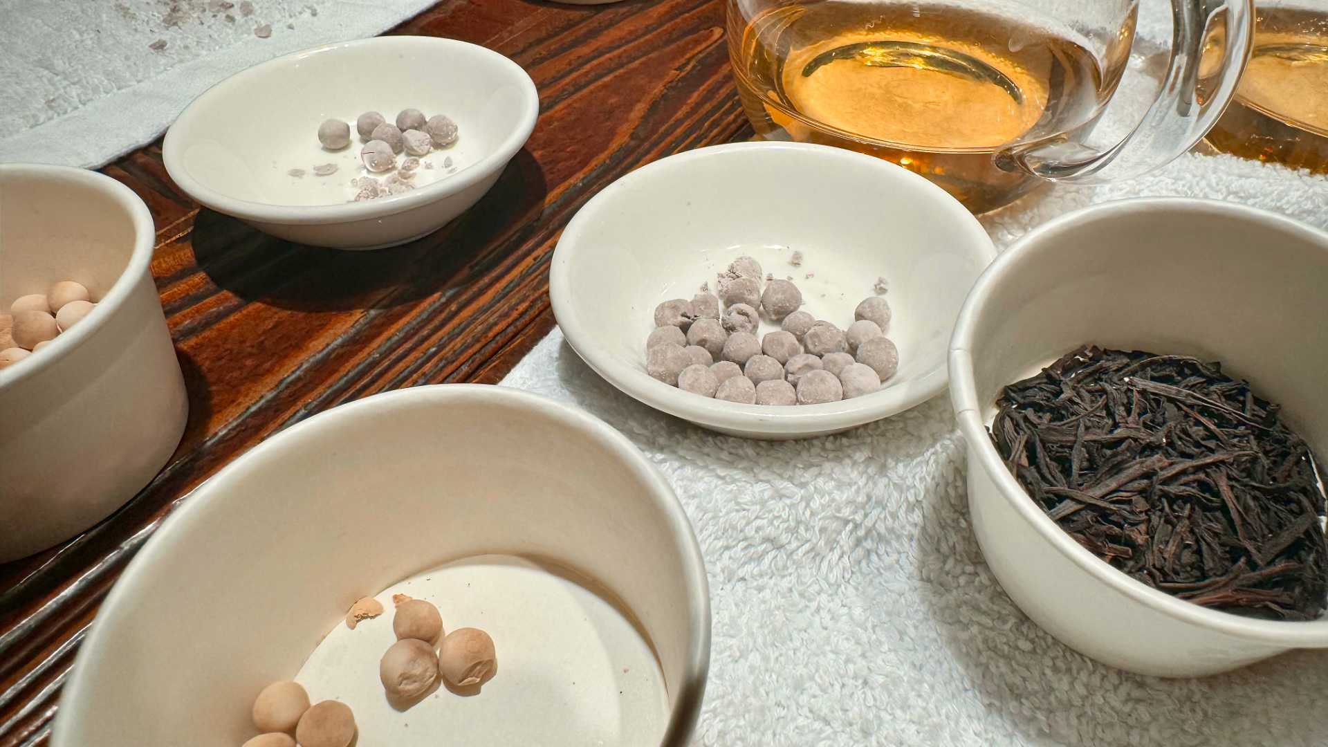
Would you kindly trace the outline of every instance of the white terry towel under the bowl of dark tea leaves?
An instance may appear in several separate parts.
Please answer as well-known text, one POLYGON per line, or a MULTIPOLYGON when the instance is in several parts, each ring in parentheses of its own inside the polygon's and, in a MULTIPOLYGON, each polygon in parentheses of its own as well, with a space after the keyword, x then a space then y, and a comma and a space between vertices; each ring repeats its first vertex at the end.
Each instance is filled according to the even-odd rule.
MULTIPOLYGON (((1004 247, 1048 218, 1133 195, 1230 199, 1328 227, 1328 178, 1198 154, 1129 183, 1053 187, 985 223, 1004 247)), ((687 508, 713 606, 699 744, 1328 740, 1328 654, 1153 679, 1092 662, 1025 618, 968 525, 963 439, 948 396, 839 436, 749 441, 636 403, 558 331, 503 384, 608 421, 659 465, 687 508)))

